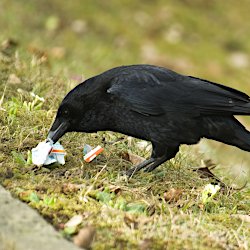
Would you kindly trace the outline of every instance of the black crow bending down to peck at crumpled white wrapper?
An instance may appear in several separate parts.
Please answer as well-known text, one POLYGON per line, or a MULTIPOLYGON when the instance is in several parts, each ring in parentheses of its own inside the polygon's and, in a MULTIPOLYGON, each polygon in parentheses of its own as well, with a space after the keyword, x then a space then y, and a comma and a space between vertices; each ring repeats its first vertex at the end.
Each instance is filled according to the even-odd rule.
POLYGON ((110 69, 71 90, 48 138, 65 133, 115 131, 150 141, 151 157, 127 174, 152 171, 173 158, 181 144, 202 137, 250 151, 250 132, 234 115, 250 115, 250 98, 233 88, 163 67, 110 69))

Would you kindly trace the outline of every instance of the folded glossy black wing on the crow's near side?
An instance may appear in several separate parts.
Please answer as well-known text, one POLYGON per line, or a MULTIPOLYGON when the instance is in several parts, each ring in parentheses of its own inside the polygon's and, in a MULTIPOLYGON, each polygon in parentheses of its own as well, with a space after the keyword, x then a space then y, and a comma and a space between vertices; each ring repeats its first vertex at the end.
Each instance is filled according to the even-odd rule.
POLYGON ((199 78, 135 71, 115 77, 108 93, 146 116, 164 113, 250 113, 249 97, 229 87, 199 78))

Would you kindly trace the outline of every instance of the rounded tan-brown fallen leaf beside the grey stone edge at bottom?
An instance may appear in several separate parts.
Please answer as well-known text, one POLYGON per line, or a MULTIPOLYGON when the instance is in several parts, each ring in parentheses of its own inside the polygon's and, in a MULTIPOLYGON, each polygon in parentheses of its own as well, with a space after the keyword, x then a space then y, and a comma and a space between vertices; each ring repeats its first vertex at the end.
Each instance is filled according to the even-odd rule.
POLYGON ((82 228, 74 237, 73 242, 81 248, 89 248, 95 236, 95 229, 93 226, 82 228))

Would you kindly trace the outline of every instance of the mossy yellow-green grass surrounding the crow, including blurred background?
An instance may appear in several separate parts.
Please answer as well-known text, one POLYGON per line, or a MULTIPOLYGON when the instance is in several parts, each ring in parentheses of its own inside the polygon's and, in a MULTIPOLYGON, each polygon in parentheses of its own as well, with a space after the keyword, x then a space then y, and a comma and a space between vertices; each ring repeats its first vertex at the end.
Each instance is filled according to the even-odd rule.
POLYGON ((230 186, 242 186, 249 181, 249 159, 242 152, 223 146, 219 157, 209 144, 205 151, 210 154, 205 155, 197 147, 182 146, 175 159, 153 173, 127 179, 123 172, 132 163, 124 155, 149 154, 137 146, 137 139, 112 132, 71 133, 61 140, 67 151, 64 166, 37 168, 28 161, 30 150, 46 138, 63 96, 80 79, 113 66, 153 63, 249 93, 247 62, 239 66, 230 59, 235 53, 249 54, 248 1, 239 6, 231 0, 159 0, 154 5, 130 0, 2 1, 0 7, 2 185, 69 240, 92 225, 93 249, 249 248, 249 185, 221 189, 206 202, 202 195, 212 180, 193 171, 207 157, 222 158, 216 174, 230 186), (90 164, 83 161, 85 143, 105 147, 90 164), (239 173, 242 159, 247 168, 239 173), (180 195, 169 200, 175 191, 180 195), (83 215, 81 224, 63 229, 76 214, 83 215))

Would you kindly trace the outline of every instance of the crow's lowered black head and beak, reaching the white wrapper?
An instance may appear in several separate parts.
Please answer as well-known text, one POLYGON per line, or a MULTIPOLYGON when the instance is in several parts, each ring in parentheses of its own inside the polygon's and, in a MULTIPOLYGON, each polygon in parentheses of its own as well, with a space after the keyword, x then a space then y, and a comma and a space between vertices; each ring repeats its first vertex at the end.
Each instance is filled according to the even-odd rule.
POLYGON ((67 132, 95 132, 101 109, 99 91, 93 79, 72 89, 60 104, 48 139, 57 142, 67 132))

